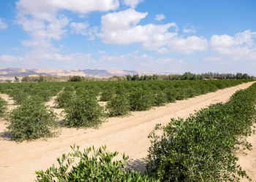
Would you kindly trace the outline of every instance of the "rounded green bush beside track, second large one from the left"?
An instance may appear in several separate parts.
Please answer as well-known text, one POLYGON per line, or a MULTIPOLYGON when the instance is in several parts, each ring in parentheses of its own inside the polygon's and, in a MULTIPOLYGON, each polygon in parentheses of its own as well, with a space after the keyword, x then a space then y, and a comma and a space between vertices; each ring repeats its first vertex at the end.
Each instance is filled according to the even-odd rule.
POLYGON ((105 112, 96 97, 78 96, 64 108, 67 127, 98 127, 105 122, 105 112))

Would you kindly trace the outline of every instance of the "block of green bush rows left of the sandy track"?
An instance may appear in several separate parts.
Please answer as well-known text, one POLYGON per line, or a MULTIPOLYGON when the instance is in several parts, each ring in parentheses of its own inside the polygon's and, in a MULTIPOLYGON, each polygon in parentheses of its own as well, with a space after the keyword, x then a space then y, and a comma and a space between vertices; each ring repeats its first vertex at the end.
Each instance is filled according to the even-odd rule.
POLYGON ((58 84, 42 82, 1 84, 0 92, 9 94, 15 100, 15 104, 20 105, 8 114, 7 119, 10 121, 8 128, 12 133, 12 139, 23 141, 56 135, 61 126, 99 127, 108 116, 124 116, 130 111, 146 111, 152 106, 163 106, 176 100, 215 92, 247 81, 65 82, 58 84), (60 90, 63 91, 60 92, 60 90), (58 92, 60 93, 56 98, 56 106, 64 108, 62 121, 59 121, 53 111, 44 104, 58 92), (98 100, 107 100, 107 106, 99 106, 98 100))

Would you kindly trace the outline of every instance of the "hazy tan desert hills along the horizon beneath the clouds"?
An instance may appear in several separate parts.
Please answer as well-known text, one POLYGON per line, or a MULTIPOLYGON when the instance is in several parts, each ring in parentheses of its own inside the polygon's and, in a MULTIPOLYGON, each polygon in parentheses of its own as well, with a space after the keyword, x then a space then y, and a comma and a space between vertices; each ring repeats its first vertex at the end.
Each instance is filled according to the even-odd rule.
MULTIPOLYGON (((48 69, 26 69, 26 68, 0 68, 1 78, 11 78, 14 76, 90 76, 96 78, 108 78, 110 76, 124 76, 124 75, 153 75, 157 74, 154 71, 128 71, 128 70, 48 70, 48 69)), ((165 73, 171 74, 171 73, 165 73)))

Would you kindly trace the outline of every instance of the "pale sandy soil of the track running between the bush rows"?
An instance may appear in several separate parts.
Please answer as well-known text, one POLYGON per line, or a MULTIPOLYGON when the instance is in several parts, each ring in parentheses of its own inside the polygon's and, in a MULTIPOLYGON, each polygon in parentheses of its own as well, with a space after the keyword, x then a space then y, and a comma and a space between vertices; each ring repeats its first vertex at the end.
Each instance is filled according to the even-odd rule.
MULTIPOLYGON (((77 144, 80 149, 88 146, 107 145, 109 151, 129 155, 131 164, 143 170, 139 159, 146 157, 150 141, 147 136, 155 124, 167 124, 170 118, 187 118, 200 108, 211 103, 226 102, 234 92, 249 87, 252 83, 241 84, 225 90, 208 93, 189 100, 181 100, 167 106, 152 108, 150 111, 133 112, 130 116, 110 118, 99 130, 63 129, 58 138, 48 141, 15 143, 4 138, 4 121, 0 119, 0 181, 34 181, 34 171, 50 167, 61 154, 70 151, 69 146, 77 144)), ((0 95, 3 96, 3 95, 0 95)), ((8 100, 8 99, 7 99, 8 100)), ((9 100, 10 101, 10 100, 9 100)), ((48 103, 53 105, 53 100, 48 103)), ((59 113, 61 110, 57 110, 59 113)), ((247 156, 240 155, 239 163, 255 181, 256 177, 256 135, 249 137, 253 150, 247 156)))

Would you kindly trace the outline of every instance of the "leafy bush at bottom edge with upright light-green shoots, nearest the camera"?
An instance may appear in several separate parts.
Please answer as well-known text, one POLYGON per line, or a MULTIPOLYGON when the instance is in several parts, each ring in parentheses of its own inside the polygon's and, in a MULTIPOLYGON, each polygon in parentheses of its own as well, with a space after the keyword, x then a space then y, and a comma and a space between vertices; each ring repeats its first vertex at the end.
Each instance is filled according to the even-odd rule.
POLYGON ((37 182, 52 182, 56 181, 56 178, 62 182, 157 181, 146 174, 140 174, 134 170, 124 170, 124 165, 129 157, 124 154, 122 160, 113 160, 118 156, 118 152, 108 152, 105 146, 97 150, 92 147, 83 152, 79 151, 78 146, 76 148, 73 146, 72 150, 72 153, 62 154, 62 157, 57 159, 59 167, 53 165, 45 172, 37 171, 37 182), (73 165, 75 159, 79 160, 78 165, 73 165))

